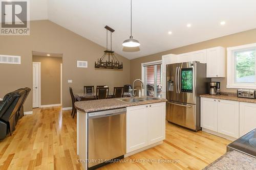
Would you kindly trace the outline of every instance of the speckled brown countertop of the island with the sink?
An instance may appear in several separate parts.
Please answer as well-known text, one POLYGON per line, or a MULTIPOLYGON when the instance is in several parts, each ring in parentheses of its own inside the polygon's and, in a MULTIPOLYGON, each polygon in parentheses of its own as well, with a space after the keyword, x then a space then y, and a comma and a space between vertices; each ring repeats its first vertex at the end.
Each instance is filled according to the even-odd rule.
MULTIPOLYGON (((122 99, 122 98, 119 98, 119 99, 122 99)), ((127 99, 127 98, 123 98, 123 99, 127 99)), ((79 111, 88 113, 88 112, 118 109, 118 108, 124 108, 129 106, 146 105, 146 104, 159 103, 159 102, 167 102, 167 100, 158 98, 157 100, 127 103, 127 102, 120 101, 118 99, 101 99, 101 100, 75 102, 75 107, 79 111)))

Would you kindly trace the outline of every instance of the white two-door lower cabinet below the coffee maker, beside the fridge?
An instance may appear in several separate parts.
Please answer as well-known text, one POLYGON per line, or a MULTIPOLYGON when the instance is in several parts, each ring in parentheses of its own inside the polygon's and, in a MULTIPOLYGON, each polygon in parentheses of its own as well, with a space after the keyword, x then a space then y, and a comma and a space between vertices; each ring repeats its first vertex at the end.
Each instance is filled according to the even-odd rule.
POLYGON ((201 127, 239 137, 239 102, 201 98, 201 127))

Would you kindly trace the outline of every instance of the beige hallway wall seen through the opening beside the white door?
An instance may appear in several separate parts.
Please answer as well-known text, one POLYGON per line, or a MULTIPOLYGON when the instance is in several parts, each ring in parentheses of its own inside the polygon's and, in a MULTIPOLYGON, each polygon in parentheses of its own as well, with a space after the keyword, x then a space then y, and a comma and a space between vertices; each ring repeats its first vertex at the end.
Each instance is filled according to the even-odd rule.
POLYGON ((33 56, 32 61, 41 63, 41 105, 60 104, 62 58, 33 56))

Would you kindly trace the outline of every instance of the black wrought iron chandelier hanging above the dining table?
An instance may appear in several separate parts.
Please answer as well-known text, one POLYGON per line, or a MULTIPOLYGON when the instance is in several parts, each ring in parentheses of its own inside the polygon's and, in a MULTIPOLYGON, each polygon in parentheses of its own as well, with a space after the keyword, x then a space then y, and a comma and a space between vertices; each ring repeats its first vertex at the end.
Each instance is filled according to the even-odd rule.
POLYGON ((95 62, 95 68, 108 68, 108 69, 122 69, 123 63, 119 62, 112 51, 112 33, 115 31, 109 26, 104 27, 106 29, 106 50, 103 56, 95 62), (108 32, 110 31, 110 51, 108 49, 108 32))

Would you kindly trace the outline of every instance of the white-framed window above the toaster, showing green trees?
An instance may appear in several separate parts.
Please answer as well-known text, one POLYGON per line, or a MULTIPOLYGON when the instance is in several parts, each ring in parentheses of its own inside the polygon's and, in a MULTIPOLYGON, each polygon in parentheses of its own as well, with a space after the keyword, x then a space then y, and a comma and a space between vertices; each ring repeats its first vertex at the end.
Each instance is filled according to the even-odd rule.
POLYGON ((256 43, 227 48, 227 88, 256 89, 256 43))

